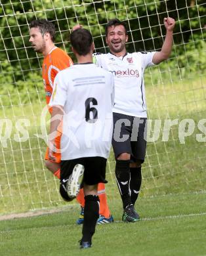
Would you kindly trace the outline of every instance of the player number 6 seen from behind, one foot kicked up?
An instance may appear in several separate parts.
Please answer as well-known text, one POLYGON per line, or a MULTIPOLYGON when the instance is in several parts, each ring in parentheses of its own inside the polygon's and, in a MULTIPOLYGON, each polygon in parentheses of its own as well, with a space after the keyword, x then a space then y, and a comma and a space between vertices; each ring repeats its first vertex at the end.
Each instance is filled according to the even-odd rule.
POLYGON ((91 247, 98 219, 97 185, 106 183, 106 160, 112 143, 114 83, 111 72, 93 64, 94 43, 88 30, 70 35, 77 64, 60 71, 54 80, 49 157, 55 151, 56 129, 63 116, 60 194, 77 196, 83 175, 85 212, 80 247, 91 247))

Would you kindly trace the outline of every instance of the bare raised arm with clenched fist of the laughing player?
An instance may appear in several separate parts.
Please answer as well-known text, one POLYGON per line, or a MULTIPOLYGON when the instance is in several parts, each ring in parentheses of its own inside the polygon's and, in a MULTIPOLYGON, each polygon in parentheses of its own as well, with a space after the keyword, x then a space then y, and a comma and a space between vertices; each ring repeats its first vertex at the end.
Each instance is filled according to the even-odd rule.
POLYGON ((167 60, 173 48, 173 29, 175 28, 175 20, 173 18, 164 18, 165 28, 167 30, 165 41, 161 47, 161 51, 154 54, 152 62, 159 64, 163 60, 167 60))

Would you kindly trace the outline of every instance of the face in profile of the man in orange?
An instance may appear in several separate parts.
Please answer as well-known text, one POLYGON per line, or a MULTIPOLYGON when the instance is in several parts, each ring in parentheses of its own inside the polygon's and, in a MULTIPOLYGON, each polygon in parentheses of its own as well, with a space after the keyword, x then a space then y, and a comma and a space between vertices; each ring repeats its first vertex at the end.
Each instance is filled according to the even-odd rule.
POLYGON ((37 53, 43 53, 46 48, 45 36, 41 34, 39 28, 31 28, 30 43, 33 50, 37 53))

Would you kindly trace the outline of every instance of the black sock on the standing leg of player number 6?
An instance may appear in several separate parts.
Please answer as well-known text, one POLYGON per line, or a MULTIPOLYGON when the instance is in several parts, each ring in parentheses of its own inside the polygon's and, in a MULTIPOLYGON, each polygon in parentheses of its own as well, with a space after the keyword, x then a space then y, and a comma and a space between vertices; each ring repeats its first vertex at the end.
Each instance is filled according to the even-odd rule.
POLYGON ((85 212, 82 228, 82 241, 91 243, 92 236, 95 232, 96 221, 99 217, 99 198, 98 196, 85 196, 85 212))

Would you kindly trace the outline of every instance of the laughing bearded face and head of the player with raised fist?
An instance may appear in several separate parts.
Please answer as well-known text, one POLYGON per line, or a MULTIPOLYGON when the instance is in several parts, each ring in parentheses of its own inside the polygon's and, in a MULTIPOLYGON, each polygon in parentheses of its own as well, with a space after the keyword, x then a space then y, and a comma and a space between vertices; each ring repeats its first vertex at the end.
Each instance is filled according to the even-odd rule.
POLYGON ((111 26, 108 28, 106 35, 106 43, 110 48, 111 53, 122 56, 126 53, 125 43, 128 40, 125 28, 123 25, 111 26))

